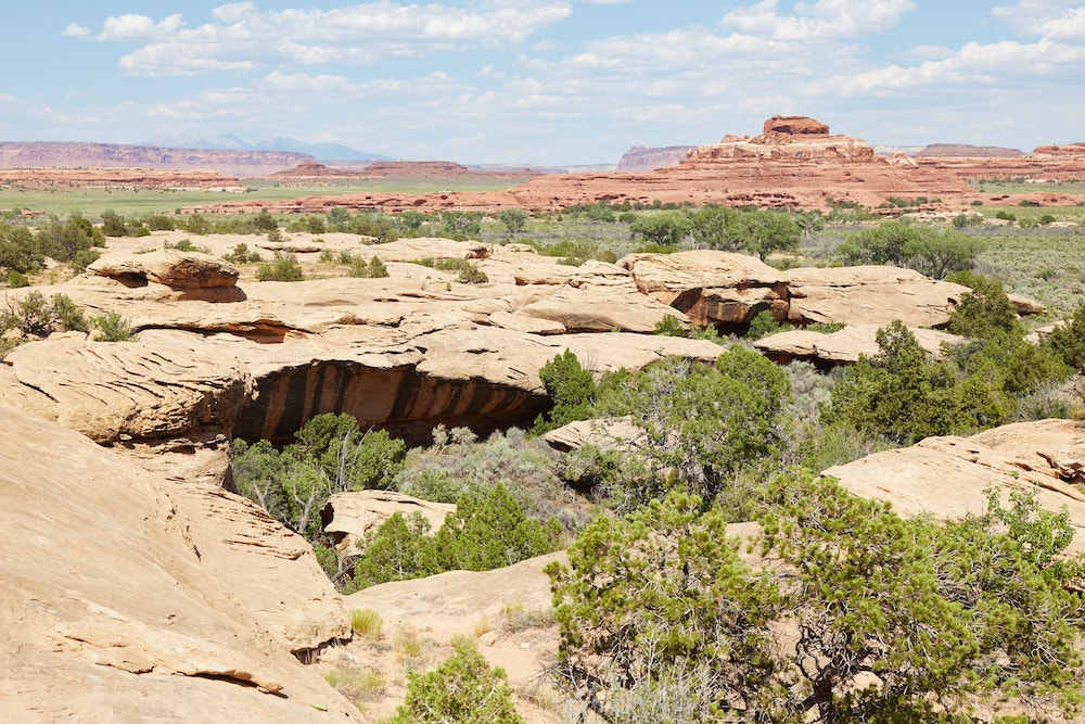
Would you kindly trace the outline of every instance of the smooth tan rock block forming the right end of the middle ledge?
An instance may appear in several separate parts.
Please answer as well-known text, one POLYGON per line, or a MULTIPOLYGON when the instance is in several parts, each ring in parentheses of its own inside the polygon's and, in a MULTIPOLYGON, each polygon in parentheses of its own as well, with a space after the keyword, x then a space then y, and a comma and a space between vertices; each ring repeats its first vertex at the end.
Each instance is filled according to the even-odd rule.
POLYGON ((943 327, 967 287, 886 266, 801 267, 782 272, 790 292, 788 321, 884 327, 943 327))

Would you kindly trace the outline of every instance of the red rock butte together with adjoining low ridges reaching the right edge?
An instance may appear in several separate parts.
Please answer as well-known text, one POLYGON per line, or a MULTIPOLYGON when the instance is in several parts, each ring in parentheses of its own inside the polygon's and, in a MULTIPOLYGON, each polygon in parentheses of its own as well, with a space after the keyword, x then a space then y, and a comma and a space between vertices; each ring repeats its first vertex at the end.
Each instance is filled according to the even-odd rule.
MULTIPOLYGON (((986 152, 984 152, 986 153, 986 152)), ((387 172, 394 164, 385 164, 387 172)), ((309 178, 316 178, 311 166, 309 178)), ((341 177, 342 169, 327 169, 341 177)), ((369 169, 369 173, 374 173, 369 169)), ((494 212, 500 208, 553 212, 575 204, 653 201, 752 205, 764 208, 828 208, 829 201, 877 207, 890 198, 937 199, 927 209, 960 211, 973 201, 1017 205, 1073 205, 1077 198, 1038 190, 992 196, 968 185, 970 179, 1077 179, 1085 176, 1085 144, 1039 147, 1012 157, 879 156, 866 141, 832 135, 822 123, 804 116, 773 116, 760 136, 725 136, 718 143, 688 151, 674 165, 638 173, 591 173, 538 176, 505 191, 448 191, 431 194, 363 193, 305 196, 268 204, 226 202, 192 207, 200 212, 326 213, 349 209, 447 209, 494 212)))

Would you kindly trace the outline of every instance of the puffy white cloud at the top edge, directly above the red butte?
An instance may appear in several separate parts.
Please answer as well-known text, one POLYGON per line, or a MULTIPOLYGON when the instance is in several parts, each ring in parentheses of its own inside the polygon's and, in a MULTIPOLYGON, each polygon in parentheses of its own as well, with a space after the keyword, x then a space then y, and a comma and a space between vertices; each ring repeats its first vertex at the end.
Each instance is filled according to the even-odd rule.
POLYGON ((737 8, 724 15, 720 26, 777 40, 851 38, 892 29, 916 4, 911 0, 818 0, 796 3, 795 15, 779 14, 778 7, 778 0, 760 0, 737 8))

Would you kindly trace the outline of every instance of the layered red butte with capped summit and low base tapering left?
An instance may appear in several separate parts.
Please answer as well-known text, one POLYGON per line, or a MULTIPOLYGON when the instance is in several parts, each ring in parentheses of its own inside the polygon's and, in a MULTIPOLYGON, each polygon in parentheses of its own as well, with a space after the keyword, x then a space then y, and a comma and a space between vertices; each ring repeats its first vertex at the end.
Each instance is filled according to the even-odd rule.
MULTIPOLYGON (((911 158, 876 156, 865 141, 829 135, 825 124, 812 118, 777 116, 766 122, 765 129, 755 138, 727 136, 719 143, 690 151, 677 165, 652 173, 547 175, 507 191, 485 193, 312 196, 269 208, 275 213, 323 212, 335 205, 391 212, 492 212, 511 207, 549 212, 600 201, 655 200, 698 206, 716 203, 826 208, 829 199, 877 206, 889 196, 922 195, 963 206, 975 198, 971 187, 953 170, 917 165, 911 158)), ((255 206, 238 202, 214 208, 244 211, 255 206)))

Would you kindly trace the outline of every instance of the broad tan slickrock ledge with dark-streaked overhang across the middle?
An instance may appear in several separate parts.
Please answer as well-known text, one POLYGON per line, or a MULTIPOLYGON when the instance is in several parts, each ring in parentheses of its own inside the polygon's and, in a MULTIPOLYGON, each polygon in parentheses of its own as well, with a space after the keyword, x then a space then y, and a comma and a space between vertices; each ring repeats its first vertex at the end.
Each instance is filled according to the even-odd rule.
MULTIPOLYGON (((597 374, 719 355, 711 342, 651 334, 668 316, 733 328, 769 308, 800 323, 899 318, 921 327, 944 322, 965 289, 886 267, 780 272, 723 252, 567 267, 515 245, 365 246, 349 234, 315 245, 378 256, 392 276, 256 282, 251 268, 239 275, 214 256, 232 239, 209 238, 221 246, 212 255, 137 253, 156 239, 111 240, 88 274, 39 290, 93 314, 118 312, 139 339, 63 334, 26 344, 0 365, 0 399, 161 472, 207 480, 216 465, 221 480, 234 435, 286 441, 321 412, 421 441, 437 423, 482 433, 529 424, 549 402, 538 369, 566 348, 597 374), (411 263, 423 258, 470 259, 490 281, 464 284, 457 272, 411 263), (163 462, 168 449, 179 467, 163 462)), ((298 254, 307 265, 318 256, 298 254)))

